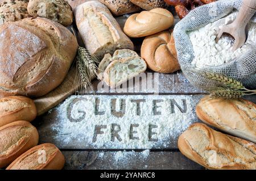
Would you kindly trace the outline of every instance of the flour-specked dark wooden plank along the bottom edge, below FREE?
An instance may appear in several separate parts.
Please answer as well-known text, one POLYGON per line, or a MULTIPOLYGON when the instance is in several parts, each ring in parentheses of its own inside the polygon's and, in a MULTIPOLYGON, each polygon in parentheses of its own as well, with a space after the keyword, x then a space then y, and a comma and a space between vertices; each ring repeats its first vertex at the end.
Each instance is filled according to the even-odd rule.
POLYGON ((131 151, 63 151, 64 169, 204 169, 184 157, 179 151, 131 152, 131 151))

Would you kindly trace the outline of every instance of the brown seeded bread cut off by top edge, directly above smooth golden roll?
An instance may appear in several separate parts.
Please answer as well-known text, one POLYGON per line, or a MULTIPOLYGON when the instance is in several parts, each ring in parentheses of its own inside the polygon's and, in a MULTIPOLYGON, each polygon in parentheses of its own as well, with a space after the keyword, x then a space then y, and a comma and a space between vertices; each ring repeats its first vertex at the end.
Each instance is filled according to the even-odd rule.
POLYGON ((150 11, 155 8, 165 8, 166 3, 163 0, 131 0, 134 5, 141 7, 144 10, 150 11))

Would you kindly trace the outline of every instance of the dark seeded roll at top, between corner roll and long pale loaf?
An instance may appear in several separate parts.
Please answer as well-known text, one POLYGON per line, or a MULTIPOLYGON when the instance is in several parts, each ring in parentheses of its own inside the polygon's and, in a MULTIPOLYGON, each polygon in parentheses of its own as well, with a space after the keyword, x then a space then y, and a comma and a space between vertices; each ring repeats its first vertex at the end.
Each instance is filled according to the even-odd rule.
POLYGON ((51 19, 63 26, 73 22, 72 7, 65 0, 30 0, 27 10, 31 16, 51 19))

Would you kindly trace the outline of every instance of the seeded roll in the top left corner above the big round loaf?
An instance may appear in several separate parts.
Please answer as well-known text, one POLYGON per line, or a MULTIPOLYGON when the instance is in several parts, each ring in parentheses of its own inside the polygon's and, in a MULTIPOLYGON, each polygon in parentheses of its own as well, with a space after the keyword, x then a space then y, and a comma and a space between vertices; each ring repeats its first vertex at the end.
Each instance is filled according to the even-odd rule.
POLYGON ((5 22, 16 22, 30 15, 27 11, 28 0, 0 1, 0 25, 5 22))

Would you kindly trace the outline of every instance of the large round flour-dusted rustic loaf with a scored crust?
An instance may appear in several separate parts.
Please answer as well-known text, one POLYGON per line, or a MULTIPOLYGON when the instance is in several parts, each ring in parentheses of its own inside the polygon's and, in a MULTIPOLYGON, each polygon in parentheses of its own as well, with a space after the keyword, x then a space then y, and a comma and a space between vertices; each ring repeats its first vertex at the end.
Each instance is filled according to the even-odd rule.
POLYGON ((77 40, 61 24, 26 18, 0 27, 0 97, 42 96, 65 78, 77 40))

